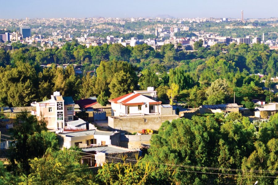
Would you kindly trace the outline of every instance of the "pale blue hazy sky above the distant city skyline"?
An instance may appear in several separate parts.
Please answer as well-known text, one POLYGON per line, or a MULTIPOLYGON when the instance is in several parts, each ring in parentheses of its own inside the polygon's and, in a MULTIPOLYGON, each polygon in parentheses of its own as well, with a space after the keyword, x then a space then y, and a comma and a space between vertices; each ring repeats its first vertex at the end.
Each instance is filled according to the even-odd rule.
POLYGON ((278 0, 0 0, 0 19, 65 17, 278 17, 278 0))

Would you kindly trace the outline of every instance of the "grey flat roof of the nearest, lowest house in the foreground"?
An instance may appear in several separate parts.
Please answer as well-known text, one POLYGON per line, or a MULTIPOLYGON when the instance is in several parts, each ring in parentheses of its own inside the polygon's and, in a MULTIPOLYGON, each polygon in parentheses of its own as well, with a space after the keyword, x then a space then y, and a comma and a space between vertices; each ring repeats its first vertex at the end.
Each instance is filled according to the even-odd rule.
POLYGON ((98 147, 88 147, 88 148, 82 148, 83 152, 103 152, 105 154, 113 154, 113 153, 124 153, 124 152, 135 152, 137 150, 130 150, 127 148, 122 148, 119 146, 98 146, 98 147))

